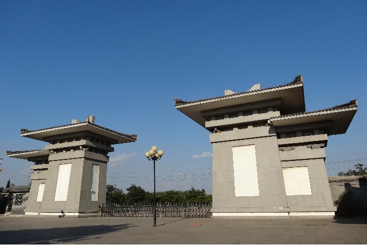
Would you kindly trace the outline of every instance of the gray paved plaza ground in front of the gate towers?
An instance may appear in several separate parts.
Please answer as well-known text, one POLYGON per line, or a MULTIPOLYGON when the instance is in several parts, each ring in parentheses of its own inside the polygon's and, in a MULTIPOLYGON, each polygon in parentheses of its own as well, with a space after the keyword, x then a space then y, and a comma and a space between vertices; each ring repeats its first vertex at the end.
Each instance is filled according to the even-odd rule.
POLYGON ((210 219, 0 216, 2 244, 366 244, 367 218, 210 219))

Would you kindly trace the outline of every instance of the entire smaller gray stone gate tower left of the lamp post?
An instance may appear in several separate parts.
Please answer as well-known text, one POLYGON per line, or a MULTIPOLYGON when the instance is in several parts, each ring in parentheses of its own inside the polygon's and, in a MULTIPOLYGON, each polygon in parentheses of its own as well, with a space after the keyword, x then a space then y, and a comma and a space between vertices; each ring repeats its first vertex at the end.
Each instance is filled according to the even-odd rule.
POLYGON ((42 140, 44 150, 7 151, 8 157, 34 162, 26 215, 97 216, 106 201, 106 170, 111 145, 134 142, 127 135, 95 124, 95 117, 40 130, 21 129, 21 136, 42 140))

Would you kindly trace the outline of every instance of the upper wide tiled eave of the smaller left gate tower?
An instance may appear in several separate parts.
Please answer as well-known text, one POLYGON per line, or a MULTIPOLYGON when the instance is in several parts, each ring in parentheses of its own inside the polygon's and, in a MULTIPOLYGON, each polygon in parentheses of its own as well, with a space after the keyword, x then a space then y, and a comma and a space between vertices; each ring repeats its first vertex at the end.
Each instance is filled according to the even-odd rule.
POLYGON ((29 131, 26 133, 22 133, 20 135, 27 137, 27 138, 47 141, 45 140, 45 138, 50 137, 50 136, 76 133, 76 132, 82 132, 82 131, 89 131, 89 132, 93 132, 93 133, 105 136, 110 139, 114 139, 116 141, 114 142, 114 144, 122 144, 122 143, 136 141, 136 135, 122 134, 122 133, 113 131, 111 129, 104 128, 96 124, 91 124, 89 122, 82 122, 82 123, 70 124, 70 125, 59 126, 59 127, 54 127, 54 128, 29 131))

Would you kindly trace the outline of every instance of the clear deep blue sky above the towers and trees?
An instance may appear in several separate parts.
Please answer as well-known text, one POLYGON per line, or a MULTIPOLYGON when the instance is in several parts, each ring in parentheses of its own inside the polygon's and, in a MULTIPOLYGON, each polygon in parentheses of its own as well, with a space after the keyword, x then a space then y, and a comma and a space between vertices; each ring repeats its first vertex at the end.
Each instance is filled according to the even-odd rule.
POLYGON ((303 74, 306 110, 358 99, 344 135, 329 137, 329 176, 367 166, 366 1, 0 0, 0 186, 29 180, 31 163, 6 150, 43 149, 20 129, 96 124, 137 134, 115 145, 107 183, 211 193, 209 132, 175 109, 286 84, 303 74), (201 156, 201 157, 200 157, 201 156))

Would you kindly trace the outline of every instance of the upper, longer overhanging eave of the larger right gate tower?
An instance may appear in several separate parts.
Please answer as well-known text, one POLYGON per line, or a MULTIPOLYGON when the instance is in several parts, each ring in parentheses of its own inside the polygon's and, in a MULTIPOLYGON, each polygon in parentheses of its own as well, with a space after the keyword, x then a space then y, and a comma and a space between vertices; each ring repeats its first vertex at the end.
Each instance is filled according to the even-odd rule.
POLYGON ((285 114, 305 111, 303 83, 192 101, 175 107, 177 110, 181 111, 183 114, 205 128, 206 119, 201 115, 202 111, 243 105, 275 98, 280 98, 282 100, 285 114))

